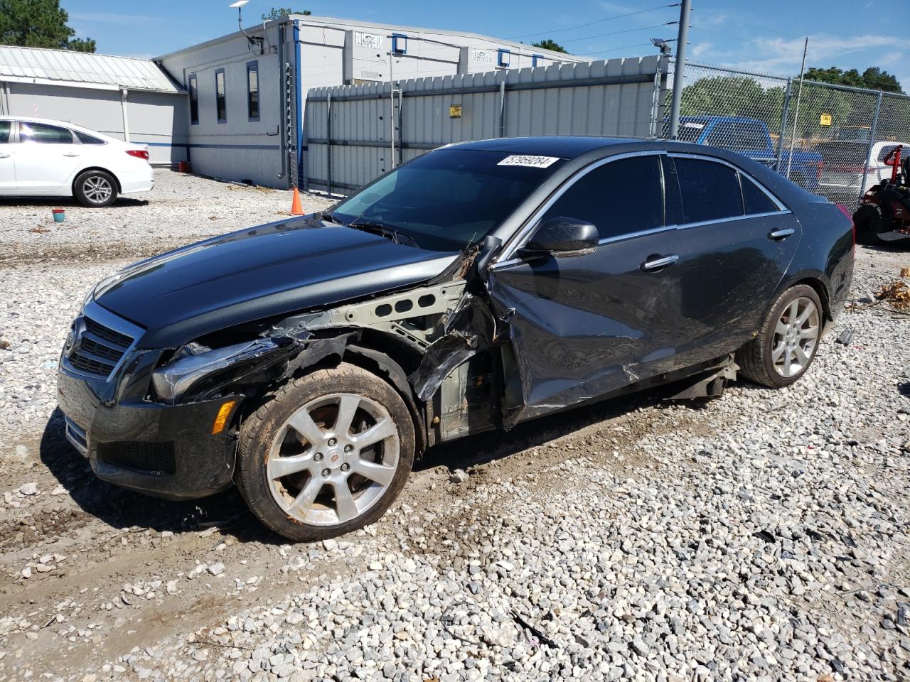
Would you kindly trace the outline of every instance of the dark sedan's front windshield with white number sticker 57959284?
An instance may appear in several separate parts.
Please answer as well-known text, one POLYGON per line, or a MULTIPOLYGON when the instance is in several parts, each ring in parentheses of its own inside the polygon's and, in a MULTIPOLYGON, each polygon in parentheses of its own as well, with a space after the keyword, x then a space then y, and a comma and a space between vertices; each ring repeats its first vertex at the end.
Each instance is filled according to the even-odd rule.
POLYGON ((440 149, 379 178, 332 216, 348 225, 386 227, 421 248, 457 251, 490 234, 563 163, 551 156, 440 149))

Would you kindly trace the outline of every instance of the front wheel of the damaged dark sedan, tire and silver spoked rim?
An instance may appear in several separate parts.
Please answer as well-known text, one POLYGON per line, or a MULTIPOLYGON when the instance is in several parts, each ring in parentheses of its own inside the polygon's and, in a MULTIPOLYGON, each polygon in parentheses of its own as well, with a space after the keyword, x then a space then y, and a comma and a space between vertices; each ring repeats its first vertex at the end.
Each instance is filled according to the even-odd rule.
POLYGON ((342 364, 278 389, 241 428, 236 480, 253 514, 290 540, 369 526, 405 486, 414 426, 386 382, 342 364))

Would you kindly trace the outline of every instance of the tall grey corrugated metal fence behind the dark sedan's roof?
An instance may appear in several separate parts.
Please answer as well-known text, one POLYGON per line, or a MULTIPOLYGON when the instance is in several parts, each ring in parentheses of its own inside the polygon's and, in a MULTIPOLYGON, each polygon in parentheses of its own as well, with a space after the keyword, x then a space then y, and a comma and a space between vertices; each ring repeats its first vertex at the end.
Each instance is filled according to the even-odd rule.
POLYGON ((304 117, 305 186, 349 194, 394 164, 450 142, 654 135, 666 72, 665 58, 649 56, 415 78, 396 84, 394 96, 388 83, 313 88, 304 117), (450 117, 451 105, 460 105, 460 117, 450 117))

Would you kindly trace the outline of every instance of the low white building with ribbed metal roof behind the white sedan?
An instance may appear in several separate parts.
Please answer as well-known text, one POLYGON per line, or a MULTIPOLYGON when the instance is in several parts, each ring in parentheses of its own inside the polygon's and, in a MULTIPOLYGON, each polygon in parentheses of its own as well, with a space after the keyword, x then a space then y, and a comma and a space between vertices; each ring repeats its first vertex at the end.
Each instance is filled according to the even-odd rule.
POLYGON ((0 115, 54 118, 146 144, 157 165, 187 154, 187 93, 147 59, 0 45, 0 115))

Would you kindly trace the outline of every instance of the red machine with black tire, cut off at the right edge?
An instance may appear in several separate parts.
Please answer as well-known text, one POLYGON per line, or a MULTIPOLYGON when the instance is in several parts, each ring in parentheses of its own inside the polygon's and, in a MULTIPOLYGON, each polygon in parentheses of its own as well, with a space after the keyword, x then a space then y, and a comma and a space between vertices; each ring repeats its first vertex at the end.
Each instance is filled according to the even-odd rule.
POLYGON ((863 244, 888 244, 910 239, 910 155, 901 158, 904 145, 897 145, 885 156, 891 178, 882 180, 863 196, 854 213, 856 241, 863 244))

